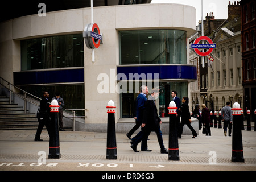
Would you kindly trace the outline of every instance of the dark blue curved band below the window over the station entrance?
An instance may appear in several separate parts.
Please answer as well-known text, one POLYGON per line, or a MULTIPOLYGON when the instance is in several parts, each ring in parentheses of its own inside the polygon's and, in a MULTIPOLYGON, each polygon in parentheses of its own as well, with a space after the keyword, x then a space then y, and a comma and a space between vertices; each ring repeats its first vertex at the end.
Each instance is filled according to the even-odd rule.
MULTIPOLYGON (((130 67, 117 67, 117 80, 120 80, 121 77, 128 78, 129 74, 131 76, 135 76, 135 74, 143 76, 148 74, 152 75, 152 79, 154 79, 154 73, 159 74, 159 79, 185 79, 185 80, 196 80, 196 67, 192 65, 152 65, 152 66, 130 66, 130 67), (122 74, 121 74, 122 73, 122 74)), ((121 80, 122 80, 121 79, 121 80)), ((142 80, 142 78, 134 79, 134 80, 142 80)))

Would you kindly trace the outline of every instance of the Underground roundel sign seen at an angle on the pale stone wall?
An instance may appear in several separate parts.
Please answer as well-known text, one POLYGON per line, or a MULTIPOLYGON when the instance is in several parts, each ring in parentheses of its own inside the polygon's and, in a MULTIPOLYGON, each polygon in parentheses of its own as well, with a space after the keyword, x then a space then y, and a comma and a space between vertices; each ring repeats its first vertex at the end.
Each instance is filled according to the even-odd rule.
POLYGON ((102 35, 96 23, 87 24, 84 28, 83 36, 85 44, 89 49, 100 47, 102 35))

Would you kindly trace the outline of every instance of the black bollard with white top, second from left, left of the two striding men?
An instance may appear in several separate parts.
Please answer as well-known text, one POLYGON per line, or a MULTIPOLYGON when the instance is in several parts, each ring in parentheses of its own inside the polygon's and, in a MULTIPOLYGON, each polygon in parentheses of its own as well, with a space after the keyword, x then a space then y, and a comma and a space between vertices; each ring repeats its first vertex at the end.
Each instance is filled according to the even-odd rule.
POLYGON ((108 113, 108 133, 106 159, 117 159, 117 139, 115 137, 115 106, 112 100, 109 101, 107 108, 108 113))

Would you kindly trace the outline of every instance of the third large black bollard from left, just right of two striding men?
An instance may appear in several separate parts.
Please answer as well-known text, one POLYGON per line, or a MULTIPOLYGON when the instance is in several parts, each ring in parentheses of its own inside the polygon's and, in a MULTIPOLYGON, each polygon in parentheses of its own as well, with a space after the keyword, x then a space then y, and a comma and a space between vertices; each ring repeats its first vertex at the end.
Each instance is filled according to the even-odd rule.
POLYGON ((176 104, 174 101, 171 101, 169 104, 169 160, 180 160, 179 156, 179 143, 177 138, 177 119, 176 117, 176 104))

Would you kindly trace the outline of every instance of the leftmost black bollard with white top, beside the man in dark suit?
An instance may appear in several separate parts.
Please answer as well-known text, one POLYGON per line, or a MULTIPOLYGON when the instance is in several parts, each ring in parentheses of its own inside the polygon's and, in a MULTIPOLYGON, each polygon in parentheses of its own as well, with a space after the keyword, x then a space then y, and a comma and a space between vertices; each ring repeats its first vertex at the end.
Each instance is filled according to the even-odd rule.
POLYGON ((59 105, 57 100, 51 102, 51 122, 49 132, 49 159, 60 159, 60 137, 58 126, 59 105))

